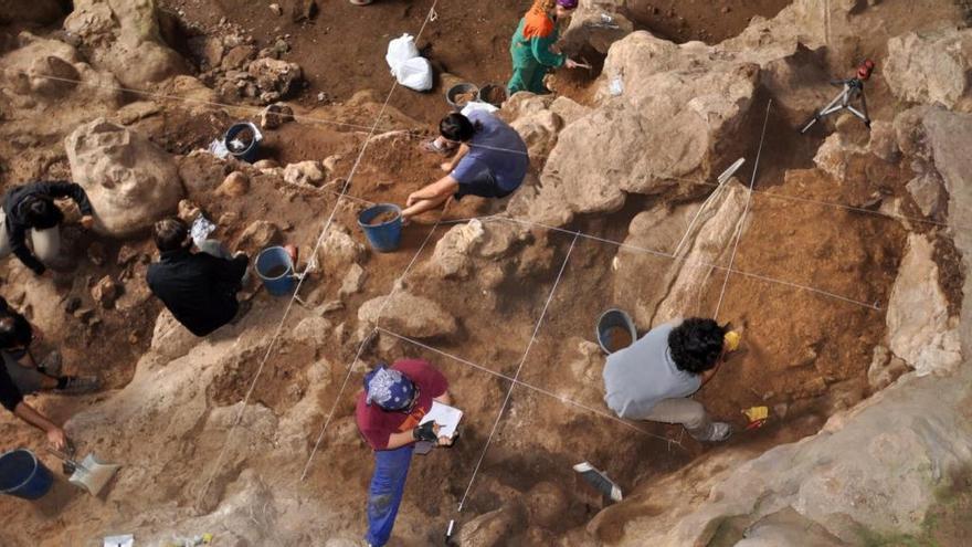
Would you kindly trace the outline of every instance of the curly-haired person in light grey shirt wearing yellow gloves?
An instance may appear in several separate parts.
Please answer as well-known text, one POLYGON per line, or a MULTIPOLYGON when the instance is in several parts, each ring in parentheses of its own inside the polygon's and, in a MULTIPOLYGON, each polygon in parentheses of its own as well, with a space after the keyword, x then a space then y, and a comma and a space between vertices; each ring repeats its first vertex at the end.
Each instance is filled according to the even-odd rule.
POLYGON ((696 440, 725 441, 732 428, 711 421, 702 403, 689 397, 719 369, 733 337, 712 319, 655 327, 608 356, 604 401, 621 418, 680 423, 696 440))

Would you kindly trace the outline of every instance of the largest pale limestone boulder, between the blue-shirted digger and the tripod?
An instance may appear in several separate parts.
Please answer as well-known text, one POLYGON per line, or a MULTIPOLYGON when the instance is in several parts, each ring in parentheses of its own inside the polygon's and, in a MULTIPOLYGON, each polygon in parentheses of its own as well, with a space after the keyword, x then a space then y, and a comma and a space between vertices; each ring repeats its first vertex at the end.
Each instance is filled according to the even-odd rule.
POLYGON ((535 201, 559 206, 533 208, 531 220, 561 224, 578 213, 616 211, 627 193, 709 178, 726 159, 718 145, 740 129, 759 81, 758 65, 705 44, 675 45, 647 32, 616 42, 599 106, 560 132, 540 176, 535 201))

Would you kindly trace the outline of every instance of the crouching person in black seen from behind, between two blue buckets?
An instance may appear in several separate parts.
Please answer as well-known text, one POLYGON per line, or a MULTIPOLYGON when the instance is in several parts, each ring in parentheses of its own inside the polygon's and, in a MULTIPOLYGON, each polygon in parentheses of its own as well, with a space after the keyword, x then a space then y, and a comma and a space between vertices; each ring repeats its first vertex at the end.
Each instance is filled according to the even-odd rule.
POLYGON ((176 319, 196 336, 233 320, 250 259, 242 252, 231 256, 214 240, 193 253, 189 227, 177 218, 156 223, 155 241, 160 257, 148 267, 148 286, 176 319))

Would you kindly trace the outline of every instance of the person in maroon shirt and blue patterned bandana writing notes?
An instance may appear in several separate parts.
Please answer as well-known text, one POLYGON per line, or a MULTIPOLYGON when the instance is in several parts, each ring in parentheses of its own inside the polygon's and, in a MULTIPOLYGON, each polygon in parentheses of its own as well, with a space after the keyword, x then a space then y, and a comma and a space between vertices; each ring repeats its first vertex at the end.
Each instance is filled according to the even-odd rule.
POLYGON ((379 364, 364 376, 364 391, 358 396, 358 430, 374 451, 374 473, 368 490, 368 534, 372 547, 388 543, 405 488, 415 442, 440 445, 452 440, 439 436, 439 425, 419 422, 432 409, 432 401, 450 404, 448 381, 421 359, 398 360, 391 367, 379 364))

